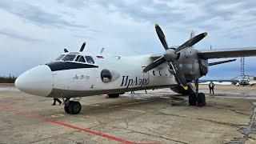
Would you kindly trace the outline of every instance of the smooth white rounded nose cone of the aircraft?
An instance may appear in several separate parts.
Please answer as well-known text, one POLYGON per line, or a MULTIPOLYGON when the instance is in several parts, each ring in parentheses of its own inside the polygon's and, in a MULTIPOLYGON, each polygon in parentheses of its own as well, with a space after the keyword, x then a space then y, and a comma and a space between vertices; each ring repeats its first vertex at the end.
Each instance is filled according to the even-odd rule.
POLYGON ((36 66, 18 76, 15 81, 18 90, 27 94, 48 96, 52 90, 52 73, 49 66, 36 66))

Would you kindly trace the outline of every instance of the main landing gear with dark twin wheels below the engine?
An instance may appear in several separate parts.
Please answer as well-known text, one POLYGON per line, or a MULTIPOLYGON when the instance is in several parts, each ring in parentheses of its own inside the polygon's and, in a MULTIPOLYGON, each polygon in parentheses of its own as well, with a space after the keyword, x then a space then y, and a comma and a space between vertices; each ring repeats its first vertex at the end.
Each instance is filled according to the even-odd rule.
POLYGON ((198 93, 198 79, 195 80, 195 90, 189 95, 190 106, 206 106, 206 95, 203 93, 198 93))

